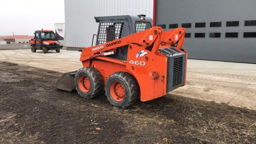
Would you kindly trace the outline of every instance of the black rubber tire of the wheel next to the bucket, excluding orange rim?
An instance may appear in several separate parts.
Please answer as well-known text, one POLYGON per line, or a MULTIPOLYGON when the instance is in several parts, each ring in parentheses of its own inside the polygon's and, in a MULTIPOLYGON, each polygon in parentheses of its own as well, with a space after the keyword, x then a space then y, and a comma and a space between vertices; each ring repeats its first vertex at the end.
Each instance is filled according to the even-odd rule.
POLYGON ((90 74, 90 76, 92 77, 92 81, 94 83, 93 84, 94 89, 93 89, 92 94, 90 94, 90 96, 86 96, 86 97, 82 96, 82 94, 80 94, 78 91, 78 84, 77 84, 77 82, 75 82, 75 86, 76 86, 76 90, 77 90, 78 94, 80 94, 80 96, 82 96, 83 98, 89 98, 89 99, 93 99, 93 98, 100 96, 100 94, 102 94, 102 91, 103 91, 103 79, 102 79, 100 72, 94 67, 80 68, 78 70, 78 72, 81 70, 84 70, 90 74))

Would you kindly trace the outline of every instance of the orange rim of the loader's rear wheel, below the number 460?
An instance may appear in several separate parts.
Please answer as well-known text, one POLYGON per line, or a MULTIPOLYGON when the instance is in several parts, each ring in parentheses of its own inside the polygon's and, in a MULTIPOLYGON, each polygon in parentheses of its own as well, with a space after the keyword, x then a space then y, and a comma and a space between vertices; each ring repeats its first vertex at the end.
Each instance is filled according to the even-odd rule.
POLYGON ((110 85, 110 95, 111 97, 120 102, 125 97, 125 88, 120 82, 113 82, 110 85))

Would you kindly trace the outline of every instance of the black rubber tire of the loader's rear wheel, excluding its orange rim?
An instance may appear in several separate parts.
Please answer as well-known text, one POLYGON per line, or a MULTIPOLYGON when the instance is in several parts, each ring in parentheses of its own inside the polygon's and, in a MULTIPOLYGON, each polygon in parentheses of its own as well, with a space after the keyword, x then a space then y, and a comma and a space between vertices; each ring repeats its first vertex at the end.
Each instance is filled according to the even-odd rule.
MULTIPOLYGON (((125 109, 125 108, 129 108, 130 106, 132 106, 133 104, 138 102, 139 87, 138 87, 138 83, 135 80, 135 78, 128 72, 116 72, 116 73, 112 74, 110 77, 112 77, 112 76, 118 76, 118 77, 122 78, 126 82, 128 88, 129 88, 130 96, 128 98, 128 102, 120 104, 120 105, 118 105, 118 107, 125 109)), ((108 98, 108 96, 107 96, 107 98, 108 98)), ((108 101, 110 101, 110 103, 112 105, 114 105, 109 98, 108 98, 108 101)))

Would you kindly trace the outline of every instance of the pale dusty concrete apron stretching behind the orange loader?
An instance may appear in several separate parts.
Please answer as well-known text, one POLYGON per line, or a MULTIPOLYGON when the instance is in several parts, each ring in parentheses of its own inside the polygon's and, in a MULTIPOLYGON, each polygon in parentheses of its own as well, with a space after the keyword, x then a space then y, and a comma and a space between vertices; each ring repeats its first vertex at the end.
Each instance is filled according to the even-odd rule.
MULTIPOLYGON (((0 60, 58 72, 82 67, 81 52, 61 50, 1 50, 0 60)), ((256 64, 188 60, 187 84, 170 92, 198 100, 256 110, 256 64)))

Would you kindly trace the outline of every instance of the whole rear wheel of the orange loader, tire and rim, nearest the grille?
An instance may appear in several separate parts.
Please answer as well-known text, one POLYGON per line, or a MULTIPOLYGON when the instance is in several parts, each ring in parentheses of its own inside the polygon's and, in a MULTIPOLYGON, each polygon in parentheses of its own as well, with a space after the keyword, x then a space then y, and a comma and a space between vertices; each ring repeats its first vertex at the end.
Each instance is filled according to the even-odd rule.
POLYGON ((138 83, 129 73, 116 72, 106 82, 106 96, 112 105, 128 108, 138 101, 138 83))

